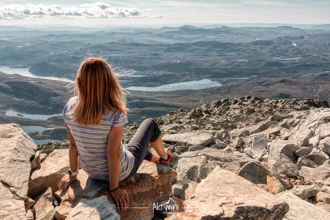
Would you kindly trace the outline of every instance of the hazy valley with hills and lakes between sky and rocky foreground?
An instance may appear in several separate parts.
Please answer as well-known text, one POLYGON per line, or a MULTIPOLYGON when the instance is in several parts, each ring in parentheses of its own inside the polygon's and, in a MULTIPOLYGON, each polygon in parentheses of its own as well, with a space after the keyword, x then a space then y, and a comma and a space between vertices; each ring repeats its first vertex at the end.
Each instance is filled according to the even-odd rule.
POLYGON ((7 29, 0 26, 0 123, 23 126, 34 141, 67 138, 61 112, 91 56, 121 75, 130 124, 222 98, 330 100, 326 28, 7 29))

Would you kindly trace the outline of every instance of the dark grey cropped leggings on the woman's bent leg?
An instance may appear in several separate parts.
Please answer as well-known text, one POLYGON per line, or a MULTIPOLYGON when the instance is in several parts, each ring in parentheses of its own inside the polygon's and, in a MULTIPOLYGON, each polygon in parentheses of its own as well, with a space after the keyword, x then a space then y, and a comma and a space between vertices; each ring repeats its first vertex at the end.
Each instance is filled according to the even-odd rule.
POLYGON ((131 141, 126 145, 126 149, 135 157, 133 169, 126 179, 136 173, 143 160, 151 161, 152 153, 149 150, 149 142, 157 141, 160 134, 161 131, 155 120, 148 118, 142 122, 131 141))

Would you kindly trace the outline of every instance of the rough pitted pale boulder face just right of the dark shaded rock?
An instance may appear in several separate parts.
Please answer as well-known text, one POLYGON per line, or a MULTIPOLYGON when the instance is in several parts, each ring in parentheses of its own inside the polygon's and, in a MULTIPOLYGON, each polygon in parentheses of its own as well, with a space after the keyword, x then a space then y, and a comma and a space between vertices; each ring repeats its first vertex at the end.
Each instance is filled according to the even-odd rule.
POLYGON ((288 177, 298 174, 297 166, 284 153, 280 153, 272 158, 271 155, 272 153, 268 158, 268 168, 272 173, 285 174, 288 177))

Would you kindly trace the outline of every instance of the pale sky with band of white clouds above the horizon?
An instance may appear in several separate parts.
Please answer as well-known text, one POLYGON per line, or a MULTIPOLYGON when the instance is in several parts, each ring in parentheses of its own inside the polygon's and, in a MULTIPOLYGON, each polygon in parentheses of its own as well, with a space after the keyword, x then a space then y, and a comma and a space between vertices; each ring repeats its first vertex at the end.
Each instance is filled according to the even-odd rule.
POLYGON ((1 0, 0 25, 323 24, 329 9, 330 0, 1 0))

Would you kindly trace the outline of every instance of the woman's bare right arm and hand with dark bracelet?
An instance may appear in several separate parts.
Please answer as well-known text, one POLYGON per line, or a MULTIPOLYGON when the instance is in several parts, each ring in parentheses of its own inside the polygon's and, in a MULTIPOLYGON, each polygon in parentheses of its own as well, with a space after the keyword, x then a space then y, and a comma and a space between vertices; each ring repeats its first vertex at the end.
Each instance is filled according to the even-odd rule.
MULTIPOLYGON (((110 178, 110 189, 116 189, 119 184, 119 170, 120 170, 120 160, 121 160, 121 138, 124 132, 124 125, 111 127, 110 134, 108 136, 108 145, 107 145, 107 157, 108 157, 108 166, 109 166, 109 178, 110 178)), ((117 208, 119 204, 121 210, 126 210, 128 206, 128 194, 124 189, 118 189, 114 192, 111 192, 112 197, 115 199, 117 208)))

